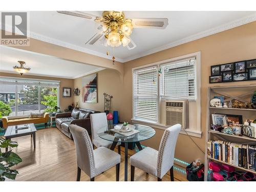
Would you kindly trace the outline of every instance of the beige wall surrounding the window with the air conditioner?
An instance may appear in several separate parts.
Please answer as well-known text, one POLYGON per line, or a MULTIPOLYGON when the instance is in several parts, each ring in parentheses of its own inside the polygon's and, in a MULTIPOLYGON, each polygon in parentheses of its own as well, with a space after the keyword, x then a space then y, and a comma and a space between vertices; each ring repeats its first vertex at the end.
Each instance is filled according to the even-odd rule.
MULTIPOLYGON (((209 86, 235 86, 249 84, 256 81, 228 82, 209 84, 210 66, 233 61, 256 58, 256 22, 233 28, 221 33, 210 35, 186 44, 170 48, 158 53, 141 57, 124 64, 124 85, 122 99, 122 120, 132 118, 132 68, 149 63, 174 58, 201 51, 201 131, 202 138, 193 137, 204 151, 205 123, 206 123, 206 93, 209 86)), ((156 135, 143 142, 144 145, 158 148, 163 130, 156 129, 156 135)), ((175 157, 191 162, 194 159, 204 160, 204 154, 186 135, 179 135, 175 157)))

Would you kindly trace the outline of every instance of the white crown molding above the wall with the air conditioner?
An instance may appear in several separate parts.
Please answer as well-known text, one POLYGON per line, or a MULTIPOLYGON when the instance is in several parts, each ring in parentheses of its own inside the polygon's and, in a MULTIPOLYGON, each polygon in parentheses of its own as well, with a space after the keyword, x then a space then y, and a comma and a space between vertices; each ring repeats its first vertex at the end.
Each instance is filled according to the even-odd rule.
POLYGON ((219 27, 211 28, 211 29, 202 31, 200 33, 197 33, 197 34, 190 35, 188 37, 179 39, 177 41, 170 42, 169 44, 163 45, 163 46, 155 48, 155 49, 148 50, 146 52, 134 55, 132 57, 124 58, 123 62, 131 61, 131 60, 134 60, 134 59, 137 59, 137 58, 140 58, 140 57, 144 57, 146 55, 150 55, 150 54, 153 54, 153 53, 157 53, 159 51, 163 51, 163 50, 166 50, 166 49, 169 49, 169 48, 172 48, 172 47, 176 47, 176 46, 185 44, 185 43, 193 41, 193 40, 197 40, 197 39, 209 36, 209 35, 213 35, 213 34, 216 34, 216 33, 222 32, 222 31, 226 31, 226 30, 229 30, 229 29, 232 29, 232 28, 235 28, 235 27, 239 27, 239 26, 251 23, 251 22, 255 22, 255 20, 256 20, 256 13, 248 15, 248 16, 243 17, 241 19, 234 20, 232 22, 221 25, 219 27))

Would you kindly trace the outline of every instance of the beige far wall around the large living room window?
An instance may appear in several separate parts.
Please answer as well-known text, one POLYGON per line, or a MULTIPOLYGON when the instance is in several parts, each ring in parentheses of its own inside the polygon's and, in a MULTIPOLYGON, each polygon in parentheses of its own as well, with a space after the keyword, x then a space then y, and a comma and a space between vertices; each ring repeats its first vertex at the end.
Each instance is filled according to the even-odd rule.
POLYGON ((65 78, 54 78, 54 77, 45 77, 45 76, 35 76, 35 75, 26 75, 23 74, 22 76, 15 73, 2 73, 0 72, 0 76, 6 77, 18 77, 18 78, 33 78, 33 79, 47 79, 47 80, 58 80, 60 81, 60 88, 59 88, 59 104, 60 109, 63 111, 68 108, 69 105, 73 102, 73 94, 71 97, 62 97, 62 88, 71 88, 73 93, 73 79, 65 79, 65 78))

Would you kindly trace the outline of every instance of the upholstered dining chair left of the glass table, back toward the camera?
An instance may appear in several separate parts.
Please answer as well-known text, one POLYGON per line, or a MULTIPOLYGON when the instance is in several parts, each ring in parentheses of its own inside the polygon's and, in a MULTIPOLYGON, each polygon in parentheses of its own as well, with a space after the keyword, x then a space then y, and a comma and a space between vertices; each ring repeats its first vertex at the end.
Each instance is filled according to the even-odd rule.
POLYGON ((70 131, 76 147, 77 177, 80 181, 81 170, 86 173, 91 181, 95 176, 105 172, 116 165, 116 181, 119 181, 120 155, 106 147, 98 147, 93 150, 93 145, 86 129, 70 125, 70 131))

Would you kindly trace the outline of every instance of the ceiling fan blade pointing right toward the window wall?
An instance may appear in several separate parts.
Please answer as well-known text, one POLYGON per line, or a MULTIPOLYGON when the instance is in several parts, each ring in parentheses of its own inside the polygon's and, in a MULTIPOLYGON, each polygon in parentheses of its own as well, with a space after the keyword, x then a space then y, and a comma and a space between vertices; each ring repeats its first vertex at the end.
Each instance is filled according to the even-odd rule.
POLYGON ((165 29, 168 18, 131 18, 134 28, 165 29))

